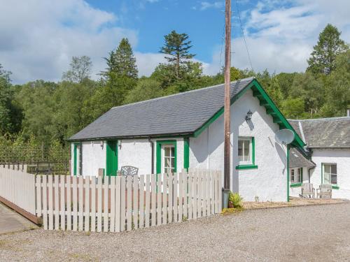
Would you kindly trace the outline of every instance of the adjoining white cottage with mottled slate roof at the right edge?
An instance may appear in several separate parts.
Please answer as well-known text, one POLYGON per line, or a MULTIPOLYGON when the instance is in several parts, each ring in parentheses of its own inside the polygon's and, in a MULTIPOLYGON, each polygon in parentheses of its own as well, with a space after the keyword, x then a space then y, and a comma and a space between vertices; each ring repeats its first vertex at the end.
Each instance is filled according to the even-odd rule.
MULTIPOLYGON (((290 187, 293 187, 290 191, 291 196, 299 196, 301 182, 311 182, 315 188, 320 184, 332 184, 333 198, 350 199, 349 112, 348 117, 289 120, 289 122, 306 143, 310 159, 305 161, 302 156, 295 159, 297 163, 295 167, 309 172, 302 171, 301 180, 299 178, 292 180, 290 175, 290 187)), ((298 177, 299 169, 293 172, 296 172, 298 177)))

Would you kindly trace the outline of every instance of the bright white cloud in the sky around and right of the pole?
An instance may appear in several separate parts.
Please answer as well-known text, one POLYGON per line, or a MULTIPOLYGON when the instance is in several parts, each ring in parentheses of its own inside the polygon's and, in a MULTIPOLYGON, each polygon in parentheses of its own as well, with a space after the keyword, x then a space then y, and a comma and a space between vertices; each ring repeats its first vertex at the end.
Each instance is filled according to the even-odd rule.
MULTIPOLYGON (((304 71, 307 59, 326 24, 332 23, 342 31, 342 38, 350 42, 350 20, 347 10, 350 1, 288 1, 265 0, 244 13, 246 43, 255 71, 267 68, 270 72, 304 71)), ((234 31, 241 31, 234 20, 234 31)), ((219 50, 219 51, 218 51, 219 50)), ((214 51, 206 70, 216 73, 223 66, 224 54, 214 51), (220 63, 221 61, 221 63, 220 63)), ((232 39, 232 66, 251 68, 243 38, 232 39)))

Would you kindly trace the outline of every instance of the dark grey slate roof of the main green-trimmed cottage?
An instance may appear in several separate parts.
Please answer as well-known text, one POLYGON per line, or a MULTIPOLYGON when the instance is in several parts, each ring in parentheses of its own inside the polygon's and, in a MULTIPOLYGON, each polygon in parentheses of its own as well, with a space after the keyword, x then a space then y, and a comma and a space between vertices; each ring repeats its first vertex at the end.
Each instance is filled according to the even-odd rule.
MULTIPOLYGON (((231 82, 231 98, 254 78, 231 82)), ((69 140, 190 134, 224 104, 224 85, 111 108, 69 140)))

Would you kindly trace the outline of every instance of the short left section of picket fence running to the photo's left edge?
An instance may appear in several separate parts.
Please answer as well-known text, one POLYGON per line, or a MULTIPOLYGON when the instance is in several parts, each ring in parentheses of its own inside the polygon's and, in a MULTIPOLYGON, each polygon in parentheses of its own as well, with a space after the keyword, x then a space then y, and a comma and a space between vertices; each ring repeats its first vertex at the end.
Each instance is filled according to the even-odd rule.
POLYGON ((0 196, 36 215, 35 176, 27 173, 27 166, 0 166, 0 196))

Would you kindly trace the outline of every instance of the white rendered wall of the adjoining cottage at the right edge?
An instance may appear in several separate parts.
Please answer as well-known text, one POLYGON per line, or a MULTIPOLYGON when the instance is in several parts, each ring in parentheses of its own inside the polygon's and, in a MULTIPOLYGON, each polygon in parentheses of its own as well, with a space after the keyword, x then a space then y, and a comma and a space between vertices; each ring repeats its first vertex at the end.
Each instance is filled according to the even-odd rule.
POLYGON ((316 168, 311 170, 311 183, 315 188, 321 184, 322 163, 337 163, 337 185, 339 189, 332 189, 333 198, 350 199, 350 148, 312 149, 312 161, 316 168))

